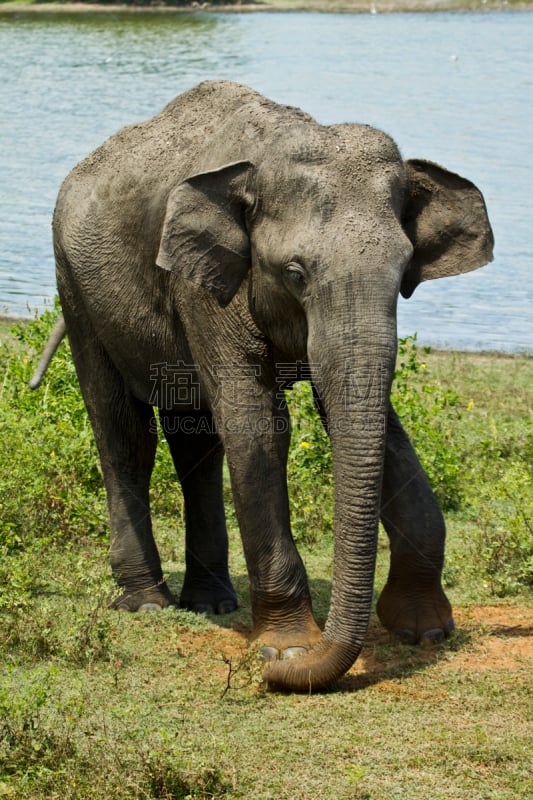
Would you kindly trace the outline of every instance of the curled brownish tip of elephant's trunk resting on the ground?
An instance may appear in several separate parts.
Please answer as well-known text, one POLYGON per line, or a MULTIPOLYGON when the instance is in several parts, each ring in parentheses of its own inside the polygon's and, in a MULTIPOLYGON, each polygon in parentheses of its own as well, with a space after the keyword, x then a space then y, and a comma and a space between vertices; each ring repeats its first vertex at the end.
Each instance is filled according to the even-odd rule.
POLYGON ((271 661, 263 679, 269 691, 311 694, 327 689, 353 665, 362 644, 346 645, 323 636, 305 655, 271 661))

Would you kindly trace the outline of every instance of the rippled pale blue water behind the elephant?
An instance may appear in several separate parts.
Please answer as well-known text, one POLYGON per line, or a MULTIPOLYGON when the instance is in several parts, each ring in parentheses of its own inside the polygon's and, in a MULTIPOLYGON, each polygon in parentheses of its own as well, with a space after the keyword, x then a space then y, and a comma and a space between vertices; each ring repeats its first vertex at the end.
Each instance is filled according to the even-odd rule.
POLYGON ((0 14, 0 311, 55 293, 59 185, 125 124, 207 78, 320 122, 367 122, 483 191, 494 262, 400 300, 399 332, 533 351, 533 14, 0 14))

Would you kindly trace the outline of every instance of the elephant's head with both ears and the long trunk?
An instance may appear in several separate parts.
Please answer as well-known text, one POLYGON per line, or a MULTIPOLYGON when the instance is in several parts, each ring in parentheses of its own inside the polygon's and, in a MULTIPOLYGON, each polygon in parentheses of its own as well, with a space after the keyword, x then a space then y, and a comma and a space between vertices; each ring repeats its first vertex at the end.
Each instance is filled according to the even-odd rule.
POLYGON ((482 266, 493 238, 472 183, 404 162, 371 127, 293 121, 245 150, 170 193, 157 263, 221 306, 245 298, 275 350, 308 362, 327 413, 330 611, 306 654, 266 668, 270 684, 306 690, 349 669, 367 632, 398 295, 482 266))

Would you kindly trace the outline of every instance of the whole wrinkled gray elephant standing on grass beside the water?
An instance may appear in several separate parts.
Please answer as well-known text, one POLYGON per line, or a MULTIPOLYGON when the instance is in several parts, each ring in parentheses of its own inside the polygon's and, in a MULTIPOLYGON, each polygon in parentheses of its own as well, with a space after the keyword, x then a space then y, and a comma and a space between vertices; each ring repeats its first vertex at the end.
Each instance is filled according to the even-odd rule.
POLYGON ((389 392, 399 292, 491 259, 475 186, 435 164, 404 162, 373 128, 323 127, 250 89, 209 82, 120 131, 71 172, 54 244, 107 490, 110 559, 122 588, 115 607, 175 602, 150 521, 158 406, 185 497, 181 605, 236 607, 225 452, 252 639, 271 659, 271 687, 325 687, 357 658, 380 516, 391 543, 381 621, 410 642, 449 633, 444 522, 389 392), (323 632, 291 538, 286 482, 281 389, 306 371, 334 463, 323 632))

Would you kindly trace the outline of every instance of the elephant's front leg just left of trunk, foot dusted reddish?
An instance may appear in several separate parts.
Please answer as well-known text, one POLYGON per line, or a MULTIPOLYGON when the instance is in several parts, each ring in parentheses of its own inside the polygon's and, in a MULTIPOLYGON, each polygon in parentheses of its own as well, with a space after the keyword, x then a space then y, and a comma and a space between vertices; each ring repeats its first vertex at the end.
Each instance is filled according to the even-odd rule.
POLYGON ((284 401, 264 391, 251 409, 220 414, 219 424, 250 580, 251 639, 267 659, 288 658, 320 638, 290 530, 288 413, 284 401))

